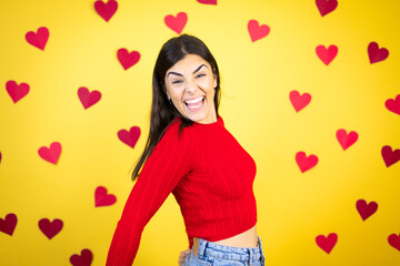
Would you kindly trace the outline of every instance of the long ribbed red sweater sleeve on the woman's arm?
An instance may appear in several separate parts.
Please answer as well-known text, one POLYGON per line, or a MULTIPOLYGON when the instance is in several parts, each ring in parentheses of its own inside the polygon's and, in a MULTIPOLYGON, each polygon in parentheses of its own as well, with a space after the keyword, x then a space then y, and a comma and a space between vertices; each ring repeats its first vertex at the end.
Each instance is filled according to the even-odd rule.
POLYGON ((146 161, 117 224, 107 266, 130 266, 142 231, 179 181, 193 167, 193 143, 179 123, 171 124, 146 161))

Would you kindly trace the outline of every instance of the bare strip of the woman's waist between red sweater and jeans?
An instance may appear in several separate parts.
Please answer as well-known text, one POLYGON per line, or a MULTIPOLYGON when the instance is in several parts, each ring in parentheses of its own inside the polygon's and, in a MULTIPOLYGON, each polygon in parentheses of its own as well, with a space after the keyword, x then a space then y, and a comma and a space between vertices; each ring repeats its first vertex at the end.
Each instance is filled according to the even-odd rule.
MULTIPOLYGON (((258 234, 256 226, 257 225, 254 225, 248 231, 244 231, 243 233, 240 233, 239 235, 234 235, 232 237, 212 243, 219 245, 226 245, 226 246, 233 246, 233 247, 257 247, 258 234)), ((199 249, 199 238, 193 237, 193 253, 196 256, 198 249, 199 249)))

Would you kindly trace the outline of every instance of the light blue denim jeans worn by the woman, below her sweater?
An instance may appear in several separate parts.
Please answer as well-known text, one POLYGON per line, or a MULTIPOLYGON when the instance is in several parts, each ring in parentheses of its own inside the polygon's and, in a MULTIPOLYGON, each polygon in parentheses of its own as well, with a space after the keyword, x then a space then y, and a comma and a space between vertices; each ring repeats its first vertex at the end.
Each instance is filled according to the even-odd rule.
POLYGON ((264 266, 266 256, 258 236, 258 247, 232 247, 199 238, 199 250, 193 248, 186 257, 184 266, 264 266))

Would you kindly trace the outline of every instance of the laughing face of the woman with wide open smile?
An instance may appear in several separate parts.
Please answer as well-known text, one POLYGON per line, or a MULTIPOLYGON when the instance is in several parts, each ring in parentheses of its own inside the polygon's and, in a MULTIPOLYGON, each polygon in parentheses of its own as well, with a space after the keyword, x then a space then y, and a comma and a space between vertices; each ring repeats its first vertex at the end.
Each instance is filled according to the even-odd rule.
POLYGON ((187 54, 167 71, 164 81, 168 98, 183 116, 201 124, 217 121, 217 78, 206 60, 187 54))

